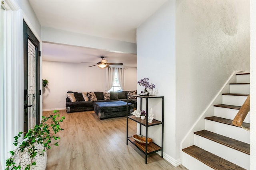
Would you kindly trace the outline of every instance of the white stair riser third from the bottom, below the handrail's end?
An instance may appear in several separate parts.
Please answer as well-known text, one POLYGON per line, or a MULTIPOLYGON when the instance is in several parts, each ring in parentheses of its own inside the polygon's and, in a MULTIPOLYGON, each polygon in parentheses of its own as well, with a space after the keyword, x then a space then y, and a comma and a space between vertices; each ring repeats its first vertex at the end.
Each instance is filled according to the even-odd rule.
POLYGON ((250 132, 232 125, 205 119, 205 130, 250 144, 250 132))

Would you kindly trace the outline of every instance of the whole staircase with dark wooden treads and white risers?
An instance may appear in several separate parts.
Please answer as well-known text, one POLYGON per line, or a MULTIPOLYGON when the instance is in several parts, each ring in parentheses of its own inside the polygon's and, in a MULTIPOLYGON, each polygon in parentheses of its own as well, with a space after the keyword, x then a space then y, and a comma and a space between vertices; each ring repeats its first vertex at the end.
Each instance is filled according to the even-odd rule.
MULTIPOLYGON (((189 170, 249 170, 250 132, 232 120, 250 94, 250 74, 236 74, 230 93, 214 105, 214 116, 205 117, 205 129, 194 132, 194 145, 182 149, 182 164, 189 170)), ((250 111, 243 123, 250 128, 250 111)))

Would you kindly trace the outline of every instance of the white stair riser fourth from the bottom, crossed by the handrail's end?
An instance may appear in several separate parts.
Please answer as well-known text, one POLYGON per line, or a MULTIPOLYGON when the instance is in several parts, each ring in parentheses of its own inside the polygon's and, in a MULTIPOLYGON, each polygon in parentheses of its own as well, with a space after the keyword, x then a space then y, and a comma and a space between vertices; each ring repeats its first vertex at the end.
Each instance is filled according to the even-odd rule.
MULTIPOLYGON (((214 116, 222 117, 225 119, 233 120, 239 110, 237 109, 229 109, 224 107, 214 107, 214 116)), ((250 111, 244 119, 245 123, 250 123, 250 111)))

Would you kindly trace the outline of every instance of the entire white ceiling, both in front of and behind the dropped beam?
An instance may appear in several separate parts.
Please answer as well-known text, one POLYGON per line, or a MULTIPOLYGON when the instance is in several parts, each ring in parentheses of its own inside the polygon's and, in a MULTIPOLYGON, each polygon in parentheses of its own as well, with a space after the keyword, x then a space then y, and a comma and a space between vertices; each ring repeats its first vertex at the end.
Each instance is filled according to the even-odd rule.
MULTIPOLYGON (((29 0, 44 27, 136 43, 136 27, 167 0, 29 0)), ((43 43, 43 60, 110 63, 136 67, 136 55, 43 43), (84 58, 86 56, 86 59, 84 58)))

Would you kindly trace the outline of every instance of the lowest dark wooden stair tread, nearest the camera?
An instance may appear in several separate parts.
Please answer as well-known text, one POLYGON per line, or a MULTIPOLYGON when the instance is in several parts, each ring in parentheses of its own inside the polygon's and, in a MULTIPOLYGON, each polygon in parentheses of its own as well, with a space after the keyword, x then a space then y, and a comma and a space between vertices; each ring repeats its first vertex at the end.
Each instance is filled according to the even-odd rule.
POLYGON ((195 145, 182 149, 182 151, 215 170, 245 170, 244 168, 195 145))

